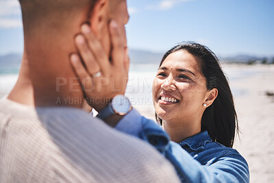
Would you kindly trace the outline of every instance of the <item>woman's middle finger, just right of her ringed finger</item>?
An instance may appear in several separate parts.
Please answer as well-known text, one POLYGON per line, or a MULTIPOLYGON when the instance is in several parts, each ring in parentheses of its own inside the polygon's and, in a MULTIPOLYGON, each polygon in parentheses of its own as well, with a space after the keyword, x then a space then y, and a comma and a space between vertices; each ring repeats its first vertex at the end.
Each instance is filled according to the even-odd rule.
POLYGON ((108 56, 105 53, 101 42, 97 39, 95 34, 91 31, 89 25, 84 24, 81 27, 81 32, 88 40, 88 47, 91 49, 93 55, 97 59, 97 63, 101 67, 101 71, 104 74, 110 73, 110 61, 108 60, 108 56))

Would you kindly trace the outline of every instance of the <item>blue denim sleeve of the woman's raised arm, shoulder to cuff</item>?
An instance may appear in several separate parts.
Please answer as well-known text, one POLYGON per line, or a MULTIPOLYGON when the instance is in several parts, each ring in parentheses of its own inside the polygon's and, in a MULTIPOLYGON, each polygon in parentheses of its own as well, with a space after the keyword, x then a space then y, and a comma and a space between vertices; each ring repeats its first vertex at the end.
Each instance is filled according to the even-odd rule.
POLYGON ((240 154, 227 154, 211 166, 202 165, 180 145, 170 141, 160 125, 142 117, 136 110, 129 112, 116 125, 116 130, 153 145, 173 164, 182 182, 249 182, 248 165, 240 154))

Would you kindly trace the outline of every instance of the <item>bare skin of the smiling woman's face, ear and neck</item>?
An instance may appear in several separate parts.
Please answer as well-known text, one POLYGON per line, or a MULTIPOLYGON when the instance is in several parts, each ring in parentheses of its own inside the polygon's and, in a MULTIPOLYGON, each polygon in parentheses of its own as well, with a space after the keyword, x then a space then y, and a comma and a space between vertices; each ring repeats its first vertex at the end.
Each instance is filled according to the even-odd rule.
POLYGON ((201 132, 203 112, 216 99, 218 90, 206 88, 199 60, 183 50, 171 53, 164 60, 153 81, 152 93, 162 127, 172 141, 179 143, 201 132), (163 101, 162 97, 177 101, 163 101))

